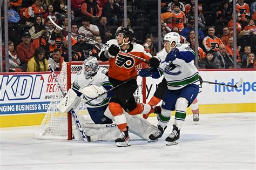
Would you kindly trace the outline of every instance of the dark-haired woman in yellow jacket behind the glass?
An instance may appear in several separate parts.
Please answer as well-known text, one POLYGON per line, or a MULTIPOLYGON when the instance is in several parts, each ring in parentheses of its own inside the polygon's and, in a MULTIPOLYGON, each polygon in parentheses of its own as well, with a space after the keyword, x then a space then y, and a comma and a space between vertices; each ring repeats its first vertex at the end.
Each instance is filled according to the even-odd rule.
POLYGON ((48 71, 48 61, 45 58, 45 50, 42 47, 38 47, 35 50, 35 56, 28 62, 27 72, 41 72, 48 71))

